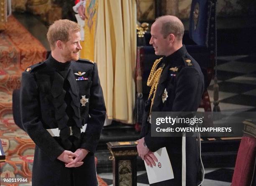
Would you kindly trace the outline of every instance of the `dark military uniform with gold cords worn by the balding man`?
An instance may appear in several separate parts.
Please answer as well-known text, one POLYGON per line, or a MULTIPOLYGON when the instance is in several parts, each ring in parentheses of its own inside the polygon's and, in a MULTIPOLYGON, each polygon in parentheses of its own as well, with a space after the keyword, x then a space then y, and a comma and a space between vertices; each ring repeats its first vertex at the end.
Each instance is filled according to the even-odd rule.
POLYGON ((154 183, 161 186, 197 186, 203 177, 200 150, 195 137, 151 137, 151 112, 195 112, 204 91, 200 66, 185 46, 155 61, 148 77, 151 92, 145 103, 141 138, 149 150, 166 147, 174 179, 154 183), (182 147, 185 147, 182 150, 182 147))

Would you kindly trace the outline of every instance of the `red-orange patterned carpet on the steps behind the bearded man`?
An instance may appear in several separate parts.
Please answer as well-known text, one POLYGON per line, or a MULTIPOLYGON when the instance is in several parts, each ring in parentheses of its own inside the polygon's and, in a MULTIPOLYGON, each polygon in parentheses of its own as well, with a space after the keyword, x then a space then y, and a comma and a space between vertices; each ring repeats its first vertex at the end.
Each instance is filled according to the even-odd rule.
POLYGON ((35 144, 12 119, 12 92, 20 87, 20 76, 28 66, 43 61, 46 49, 13 16, 0 33, 0 138, 6 156, 1 163, 3 178, 31 178, 35 144))

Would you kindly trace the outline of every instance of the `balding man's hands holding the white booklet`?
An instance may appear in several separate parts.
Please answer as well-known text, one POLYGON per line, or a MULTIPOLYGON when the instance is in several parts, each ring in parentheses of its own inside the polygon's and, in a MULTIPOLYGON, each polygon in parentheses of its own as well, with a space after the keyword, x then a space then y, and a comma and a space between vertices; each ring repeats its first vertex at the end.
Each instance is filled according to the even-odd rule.
POLYGON ((141 138, 137 140, 137 151, 138 155, 146 162, 147 166, 153 167, 156 166, 156 162, 158 162, 156 156, 153 152, 151 152, 148 147, 146 146, 146 143, 144 141, 144 138, 141 138))

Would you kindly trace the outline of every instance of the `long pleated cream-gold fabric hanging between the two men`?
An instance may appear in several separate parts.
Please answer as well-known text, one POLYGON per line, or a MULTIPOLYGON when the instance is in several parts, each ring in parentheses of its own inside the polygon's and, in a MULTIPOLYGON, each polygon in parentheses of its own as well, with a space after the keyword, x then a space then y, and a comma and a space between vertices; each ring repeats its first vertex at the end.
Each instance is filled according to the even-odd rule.
POLYGON ((136 0, 98 0, 95 61, 108 119, 133 123, 136 0))

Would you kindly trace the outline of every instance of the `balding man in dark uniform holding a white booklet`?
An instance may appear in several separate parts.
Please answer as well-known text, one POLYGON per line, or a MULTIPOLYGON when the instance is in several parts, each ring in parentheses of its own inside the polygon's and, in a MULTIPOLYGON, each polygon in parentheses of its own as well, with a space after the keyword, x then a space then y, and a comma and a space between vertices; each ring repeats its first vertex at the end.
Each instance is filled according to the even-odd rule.
POLYGON ((201 101, 203 74, 182 45, 183 34, 184 26, 175 16, 161 16, 151 26, 149 43, 163 58, 155 61, 148 77, 151 91, 137 149, 148 166, 156 166, 153 152, 166 147, 174 172, 173 179, 151 184, 154 186, 197 186, 203 179, 197 138, 151 136, 151 112, 195 112, 201 101))

